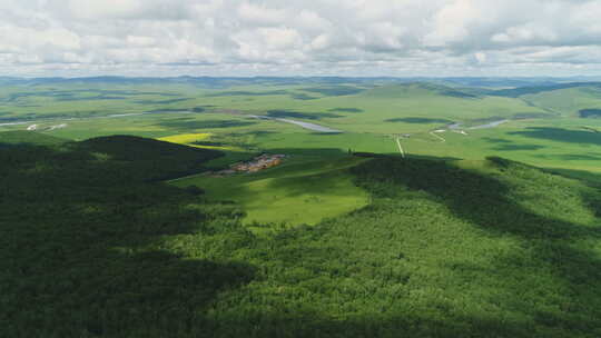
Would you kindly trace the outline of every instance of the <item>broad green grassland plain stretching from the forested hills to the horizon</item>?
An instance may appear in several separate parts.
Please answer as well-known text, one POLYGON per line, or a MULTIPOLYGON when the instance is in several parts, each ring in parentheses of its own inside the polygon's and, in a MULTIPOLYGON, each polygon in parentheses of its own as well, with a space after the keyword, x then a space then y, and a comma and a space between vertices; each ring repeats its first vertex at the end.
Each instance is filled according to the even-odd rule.
MULTIPOLYGON (((37 125, 43 135, 70 140, 111 135, 160 139, 208 133, 205 147, 214 145, 226 153, 207 163, 213 168, 225 168, 265 151, 289 155, 294 162, 307 159, 308 167, 318 163, 319 158, 339 158, 349 151, 393 155, 400 152, 397 137, 410 135, 398 139, 410 157, 482 160, 499 156, 601 181, 601 133, 597 132, 601 130, 601 119, 579 116, 583 109, 601 107, 597 83, 490 90, 352 80, 224 80, 213 87, 186 80, 117 81, 110 86, 102 81, 107 80, 3 86, 0 130, 23 130, 37 125), (253 115, 312 122, 343 132, 321 133, 249 117, 253 115), (489 129, 469 129, 500 119, 509 121, 489 129), (13 122, 22 125, 7 125, 13 122), (454 122, 463 123, 467 135, 451 130, 431 132, 454 122), (53 128, 61 125, 65 126, 53 128)), ((229 200, 246 200, 243 205, 249 218, 245 222, 258 217, 257 212, 262 213, 257 218, 262 221, 290 220, 282 213, 282 209, 287 209, 285 205, 264 203, 268 190, 284 181, 269 186, 257 180, 248 190, 249 182, 237 180, 223 179, 227 189, 209 189, 208 197, 224 199, 228 195, 229 200), (259 211, 260 208, 250 207, 252 199, 268 207, 259 211)), ((206 183, 200 180, 198 185, 206 183)), ((342 186, 348 187, 348 181, 342 186)), ((332 209, 332 215, 338 212, 337 208, 322 209, 332 209)), ((299 210, 287 211, 300 215, 299 210)), ((295 222, 305 221, 302 218, 295 222)))

